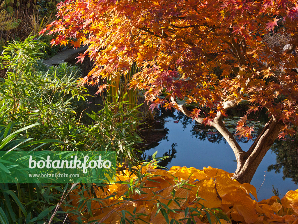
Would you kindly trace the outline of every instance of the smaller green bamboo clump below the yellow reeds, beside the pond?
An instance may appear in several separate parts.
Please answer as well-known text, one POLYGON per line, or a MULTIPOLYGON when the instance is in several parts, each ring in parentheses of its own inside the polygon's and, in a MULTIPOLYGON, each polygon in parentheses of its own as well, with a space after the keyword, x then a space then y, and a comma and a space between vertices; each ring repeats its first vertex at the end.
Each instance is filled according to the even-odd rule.
POLYGON ((97 113, 92 111, 87 114, 93 122, 85 128, 86 136, 93 142, 93 150, 117 151, 120 164, 125 159, 127 165, 137 162, 133 146, 141 142, 137 134, 137 126, 141 123, 139 106, 134 105, 130 109, 130 105, 129 101, 123 99, 121 102, 105 104, 97 113), (115 110, 117 113, 114 113, 115 110))

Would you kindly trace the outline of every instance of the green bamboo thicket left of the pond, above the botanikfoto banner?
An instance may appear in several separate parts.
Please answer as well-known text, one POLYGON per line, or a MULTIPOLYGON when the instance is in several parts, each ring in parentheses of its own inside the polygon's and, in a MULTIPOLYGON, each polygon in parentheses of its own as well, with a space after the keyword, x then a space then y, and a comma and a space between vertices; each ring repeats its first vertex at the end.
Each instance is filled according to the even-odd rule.
POLYGON ((40 123, 26 135, 63 142, 47 145, 49 149, 113 150, 119 162, 135 161, 132 146, 140 142, 137 107, 124 99, 105 104, 98 113, 88 114, 91 125, 82 124, 79 108, 88 94, 79 84, 80 69, 66 63, 47 69, 38 61, 45 45, 34 37, 10 43, 1 57, 2 67, 9 70, 0 82, 0 105, 9 111, 7 122, 40 123))

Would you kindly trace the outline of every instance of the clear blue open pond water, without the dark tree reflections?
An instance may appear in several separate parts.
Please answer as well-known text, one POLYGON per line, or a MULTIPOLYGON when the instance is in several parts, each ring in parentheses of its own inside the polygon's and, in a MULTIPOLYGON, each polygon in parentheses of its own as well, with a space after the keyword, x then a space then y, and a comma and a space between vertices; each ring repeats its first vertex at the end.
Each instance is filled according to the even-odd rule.
MULTIPOLYGON (((214 130, 208 132, 209 138, 199 138, 196 134, 194 135, 194 129, 197 127, 195 121, 183 122, 175 117, 178 115, 177 112, 174 112, 173 115, 172 117, 165 116, 163 119, 164 127, 168 129, 167 136, 159 142, 159 145, 146 150, 144 157, 152 155, 155 151, 158 151, 157 157, 162 157, 164 153, 174 148, 176 150, 175 158, 170 160, 167 168, 186 166, 203 169, 203 167, 211 166, 231 173, 236 170, 237 164, 232 149, 225 143, 224 139, 218 140, 216 136, 212 138, 214 130)), ((244 151, 247 151, 252 145, 252 141, 238 143, 244 151)), ((255 186, 257 191, 260 188, 257 193, 258 201, 274 196, 272 185, 274 188, 278 188, 282 197, 288 190, 298 189, 291 178, 283 180, 282 172, 275 174, 274 171, 267 171, 268 166, 275 163, 276 155, 269 150, 254 174, 251 184, 255 186), (264 181, 265 171, 266 178, 264 181), (260 187, 262 183, 263 185, 260 187)))

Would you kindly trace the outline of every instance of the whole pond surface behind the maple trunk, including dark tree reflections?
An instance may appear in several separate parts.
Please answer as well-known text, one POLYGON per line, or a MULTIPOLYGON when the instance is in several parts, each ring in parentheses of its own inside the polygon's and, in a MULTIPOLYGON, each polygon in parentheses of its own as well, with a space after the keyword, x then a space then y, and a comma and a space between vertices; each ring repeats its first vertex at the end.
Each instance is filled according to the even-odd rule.
MULTIPOLYGON (((171 156, 170 159, 161 164, 167 168, 171 166, 186 166, 203 169, 203 167, 211 166, 231 173, 235 171, 237 167, 235 155, 216 129, 208 129, 208 126, 205 128, 177 111, 159 111, 157 113, 159 115, 156 116, 156 120, 160 122, 161 126, 168 133, 161 132, 160 135, 164 135, 164 137, 158 142, 148 145, 150 149, 144 151, 144 159, 147 159, 148 156, 150 158, 155 151, 158 151, 157 157, 171 156)), ((230 120, 226 119, 226 125, 235 125, 233 122, 236 122, 237 119, 239 120, 239 117, 234 117, 234 119, 230 120)), ((262 124, 261 122, 251 122, 256 126, 255 131, 257 135, 258 130, 262 128, 262 124)), ((247 151, 252 141, 240 139, 239 144, 244 151, 247 151)), ((272 150, 267 152, 251 182, 257 191, 260 188, 257 193, 259 201, 274 196, 272 185, 278 189, 281 197, 288 190, 296 190, 298 188, 292 181, 292 178, 286 178, 293 177, 295 181, 298 179, 297 148, 297 141, 289 139, 287 141, 278 141, 274 144, 272 150), (271 166, 271 171, 268 171, 270 165, 275 166, 271 166), (275 170, 272 170, 272 168, 275 168, 275 170, 279 169, 280 173, 275 173, 275 170), (265 171, 266 178, 264 181, 265 171), (284 176, 285 180, 283 180, 284 176), (262 183, 263 185, 260 187, 262 183)))

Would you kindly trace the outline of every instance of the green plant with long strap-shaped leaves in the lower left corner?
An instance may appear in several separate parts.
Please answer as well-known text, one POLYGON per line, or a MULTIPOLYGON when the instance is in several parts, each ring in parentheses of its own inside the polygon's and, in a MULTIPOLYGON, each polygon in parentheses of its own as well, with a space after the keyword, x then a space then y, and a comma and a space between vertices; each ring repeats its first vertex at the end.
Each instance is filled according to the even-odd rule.
POLYGON ((52 139, 32 141, 32 138, 27 138, 23 135, 24 131, 28 131, 33 126, 39 124, 32 124, 24 128, 14 130, 14 122, 6 124, 5 107, 0 109, 0 150, 7 151, 0 158, 0 222, 2 224, 9 223, 33 223, 33 221, 43 220, 48 213, 44 210, 53 209, 51 206, 54 200, 57 200, 53 191, 44 184, 15 184, 5 183, 12 171, 18 170, 15 163, 7 163, 7 158, 10 161, 19 159, 19 157, 12 158, 12 151, 19 151, 26 155, 23 150, 33 150, 41 147, 49 142, 59 142, 52 139))

